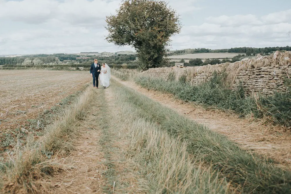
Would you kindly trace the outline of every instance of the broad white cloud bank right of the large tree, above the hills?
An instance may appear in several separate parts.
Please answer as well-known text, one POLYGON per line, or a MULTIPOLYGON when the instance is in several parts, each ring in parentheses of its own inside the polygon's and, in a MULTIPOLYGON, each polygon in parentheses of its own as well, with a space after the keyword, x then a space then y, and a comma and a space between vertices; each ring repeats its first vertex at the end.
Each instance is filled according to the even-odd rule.
MULTIPOLYGON (((239 46, 287 46, 291 40, 291 10, 256 15, 207 17, 201 25, 185 26, 173 38, 184 48, 230 48, 239 46), (182 41, 187 37, 186 41, 182 41), (188 46, 187 45, 188 42, 188 46), (193 46, 192 43, 195 43, 193 46)), ((179 47, 180 48, 180 47, 179 47)))

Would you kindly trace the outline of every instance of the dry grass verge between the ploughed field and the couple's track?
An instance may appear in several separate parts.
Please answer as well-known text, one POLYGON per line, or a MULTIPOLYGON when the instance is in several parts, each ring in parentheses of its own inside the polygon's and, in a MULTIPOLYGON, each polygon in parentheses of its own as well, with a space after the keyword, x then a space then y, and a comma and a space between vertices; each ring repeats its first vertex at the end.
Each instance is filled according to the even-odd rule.
POLYGON ((84 119, 92 96, 93 90, 86 89, 58 120, 47 127, 39 142, 27 141, 24 150, 20 146, 15 147, 10 161, 1 164, 2 191, 40 192, 41 184, 37 180, 59 168, 54 155, 66 155, 73 149, 71 141, 76 137, 75 126, 84 119))

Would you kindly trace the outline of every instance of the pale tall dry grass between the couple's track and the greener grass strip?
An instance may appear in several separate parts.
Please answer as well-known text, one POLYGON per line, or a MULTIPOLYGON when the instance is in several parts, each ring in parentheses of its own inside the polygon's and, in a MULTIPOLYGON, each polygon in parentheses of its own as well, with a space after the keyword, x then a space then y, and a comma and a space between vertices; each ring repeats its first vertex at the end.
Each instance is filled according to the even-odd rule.
MULTIPOLYGON (((233 193, 229 184, 211 167, 203 167, 187 152, 187 141, 179 142, 157 123, 141 116, 140 109, 125 100, 127 90, 113 82, 116 106, 120 109, 119 133, 130 139, 128 156, 137 163, 138 191, 145 193, 233 193), (121 97, 121 96, 122 97, 121 97)), ((116 111, 116 110, 115 110, 116 111)))

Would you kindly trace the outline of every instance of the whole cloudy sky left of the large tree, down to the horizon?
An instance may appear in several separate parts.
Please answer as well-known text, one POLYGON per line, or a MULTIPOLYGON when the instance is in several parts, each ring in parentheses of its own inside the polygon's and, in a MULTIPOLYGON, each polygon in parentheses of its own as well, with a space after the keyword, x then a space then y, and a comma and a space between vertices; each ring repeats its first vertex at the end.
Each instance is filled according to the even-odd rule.
MULTIPOLYGON (((82 52, 118 49, 104 39, 105 17, 120 1, 0 0, 0 53, 82 52), (84 49, 84 50, 83 50, 84 49)), ((128 49, 128 47, 125 47, 128 49)), ((132 50, 132 48, 130 48, 132 50)))

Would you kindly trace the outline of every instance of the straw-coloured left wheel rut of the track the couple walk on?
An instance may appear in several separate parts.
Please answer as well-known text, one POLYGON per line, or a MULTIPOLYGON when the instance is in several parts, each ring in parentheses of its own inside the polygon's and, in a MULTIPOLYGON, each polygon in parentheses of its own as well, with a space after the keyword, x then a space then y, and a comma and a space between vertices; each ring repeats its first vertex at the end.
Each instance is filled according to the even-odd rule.
POLYGON ((75 151, 61 160, 68 171, 56 175, 47 181, 48 193, 102 193, 105 185, 104 153, 100 145, 101 129, 95 112, 100 111, 97 100, 94 101, 86 121, 81 123, 79 138, 74 143, 75 151))

